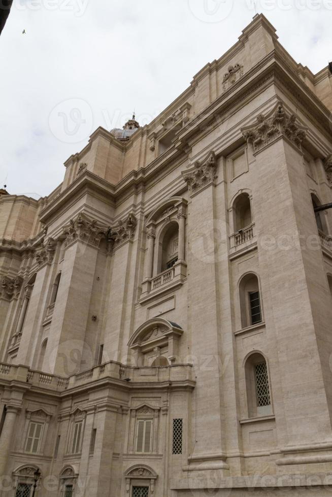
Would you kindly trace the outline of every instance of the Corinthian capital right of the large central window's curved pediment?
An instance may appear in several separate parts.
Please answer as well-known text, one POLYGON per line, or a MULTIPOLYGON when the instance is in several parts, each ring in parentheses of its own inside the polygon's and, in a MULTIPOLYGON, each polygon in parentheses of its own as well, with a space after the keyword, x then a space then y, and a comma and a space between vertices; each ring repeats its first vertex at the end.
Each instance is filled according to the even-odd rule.
POLYGON ((193 167, 182 172, 182 176, 192 195, 212 184, 217 179, 215 153, 210 152, 204 161, 194 162, 193 167))

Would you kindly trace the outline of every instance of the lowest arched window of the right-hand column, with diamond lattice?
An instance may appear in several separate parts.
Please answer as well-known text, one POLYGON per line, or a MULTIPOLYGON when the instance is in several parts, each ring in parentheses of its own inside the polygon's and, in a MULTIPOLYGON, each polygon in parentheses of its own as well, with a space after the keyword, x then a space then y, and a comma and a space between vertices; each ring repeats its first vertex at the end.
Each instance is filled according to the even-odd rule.
POLYGON ((245 363, 248 416, 272 414, 269 372, 264 356, 255 352, 245 363))

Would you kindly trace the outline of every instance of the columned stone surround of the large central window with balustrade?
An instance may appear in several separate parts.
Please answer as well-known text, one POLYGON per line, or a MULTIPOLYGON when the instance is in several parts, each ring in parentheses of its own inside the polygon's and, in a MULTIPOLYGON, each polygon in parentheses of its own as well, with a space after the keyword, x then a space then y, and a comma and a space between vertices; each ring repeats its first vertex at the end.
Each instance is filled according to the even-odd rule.
POLYGON ((185 220, 187 217, 187 200, 183 197, 171 197, 156 207, 145 221, 147 233, 147 252, 145 256, 145 278, 142 282, 140 301, 182 285, 187 275, 185 261, 185 220), (167 227, 171 223, 179 226, 178 260, 166 271, 158 272, 160 267, 160 244, 167 227), (152 296, 152 295, 151 295, 152 296))

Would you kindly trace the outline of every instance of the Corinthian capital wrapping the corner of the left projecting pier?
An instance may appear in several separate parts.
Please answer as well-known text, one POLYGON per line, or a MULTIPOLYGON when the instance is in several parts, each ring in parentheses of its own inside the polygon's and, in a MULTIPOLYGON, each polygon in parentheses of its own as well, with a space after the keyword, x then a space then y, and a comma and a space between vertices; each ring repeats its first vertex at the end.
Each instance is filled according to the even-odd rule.
POLYGON ((83 214, 79 214, 75 221, 74 219, 70 220, 69 226, 63 229, 63 234, 65 248, 76 240, 98 247, 101 240, 105 238, 106 230, 98 226, 95 219, 90 221, 83 214))

